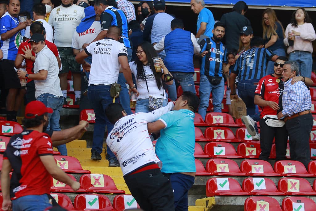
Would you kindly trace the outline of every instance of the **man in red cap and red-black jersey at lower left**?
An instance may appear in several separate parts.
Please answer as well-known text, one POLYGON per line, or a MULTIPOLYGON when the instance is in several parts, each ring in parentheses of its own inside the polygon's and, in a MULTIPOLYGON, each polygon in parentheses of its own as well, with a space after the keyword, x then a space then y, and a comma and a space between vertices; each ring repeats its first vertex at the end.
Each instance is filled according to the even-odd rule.
POLYGON ((73 181, 61 170, 53 158, 52 140, 43 133, 52 109, 40 101, 32 101, 25 108, 22 133, 11 137, 3 155, 1 184, 3 210, 42 211, 52 204, 49 201, 51 176, 66 183, 73 190, 80 183, 73 181), (11 181, 9 172, 13 169, 11 181))

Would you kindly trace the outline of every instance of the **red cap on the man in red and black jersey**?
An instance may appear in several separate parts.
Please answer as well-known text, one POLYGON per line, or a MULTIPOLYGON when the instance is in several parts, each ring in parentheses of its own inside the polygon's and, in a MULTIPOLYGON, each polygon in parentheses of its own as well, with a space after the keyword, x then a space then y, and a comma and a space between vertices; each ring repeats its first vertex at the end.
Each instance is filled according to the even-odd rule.
POLYGON ((25 107, 25 118, 32 119, 45 113, 53 113, 53 109, 47 108, 44 103, 34 100, 27 103, 25 107))

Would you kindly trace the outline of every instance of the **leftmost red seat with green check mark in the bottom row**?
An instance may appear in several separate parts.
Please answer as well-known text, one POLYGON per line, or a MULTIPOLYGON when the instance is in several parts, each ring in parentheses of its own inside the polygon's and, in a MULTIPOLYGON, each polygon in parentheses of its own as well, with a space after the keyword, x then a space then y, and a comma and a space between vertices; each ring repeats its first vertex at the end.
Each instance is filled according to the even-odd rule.
POLYGON ((74 200, 74 207, 78 210, 115 211, 108 197, 101 194, 79 194, 74 200))

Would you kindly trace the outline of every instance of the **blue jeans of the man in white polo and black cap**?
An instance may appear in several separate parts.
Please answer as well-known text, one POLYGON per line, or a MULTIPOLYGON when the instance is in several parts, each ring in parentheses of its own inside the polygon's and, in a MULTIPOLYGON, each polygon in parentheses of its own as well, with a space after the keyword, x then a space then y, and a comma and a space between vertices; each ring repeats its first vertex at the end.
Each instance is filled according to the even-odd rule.
MULTIPOLYGON (((49 122, 47 130, 60 131, 60 111, 64 105, 64 97, 44 93, 38 96, 36 100, 43 102, 46 107, 53 109, 53 113, 48 114, 49 122)), ((57 146, 57 149, 62 155, 67 156, 67 148, 65 144, 57 146)))

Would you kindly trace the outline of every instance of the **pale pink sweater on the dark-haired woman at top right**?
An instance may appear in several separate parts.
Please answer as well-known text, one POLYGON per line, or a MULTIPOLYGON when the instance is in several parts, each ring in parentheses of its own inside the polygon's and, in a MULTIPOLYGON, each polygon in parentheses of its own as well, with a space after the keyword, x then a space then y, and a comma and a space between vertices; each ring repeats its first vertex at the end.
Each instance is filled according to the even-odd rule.
POLYGON ((312 41, 316 39, 314 27, 311 23, 304 23, 303 25, 297 25, 294 28, 291 23, 285 29, 285 38, 283 40, 285 46, 289 46, 287 52, 293 51, 307 51, 313 53, 312 41), (301 36, 295 36, 294 46, 289 46, 288 35, 292 30, 300 32, 301 36))

